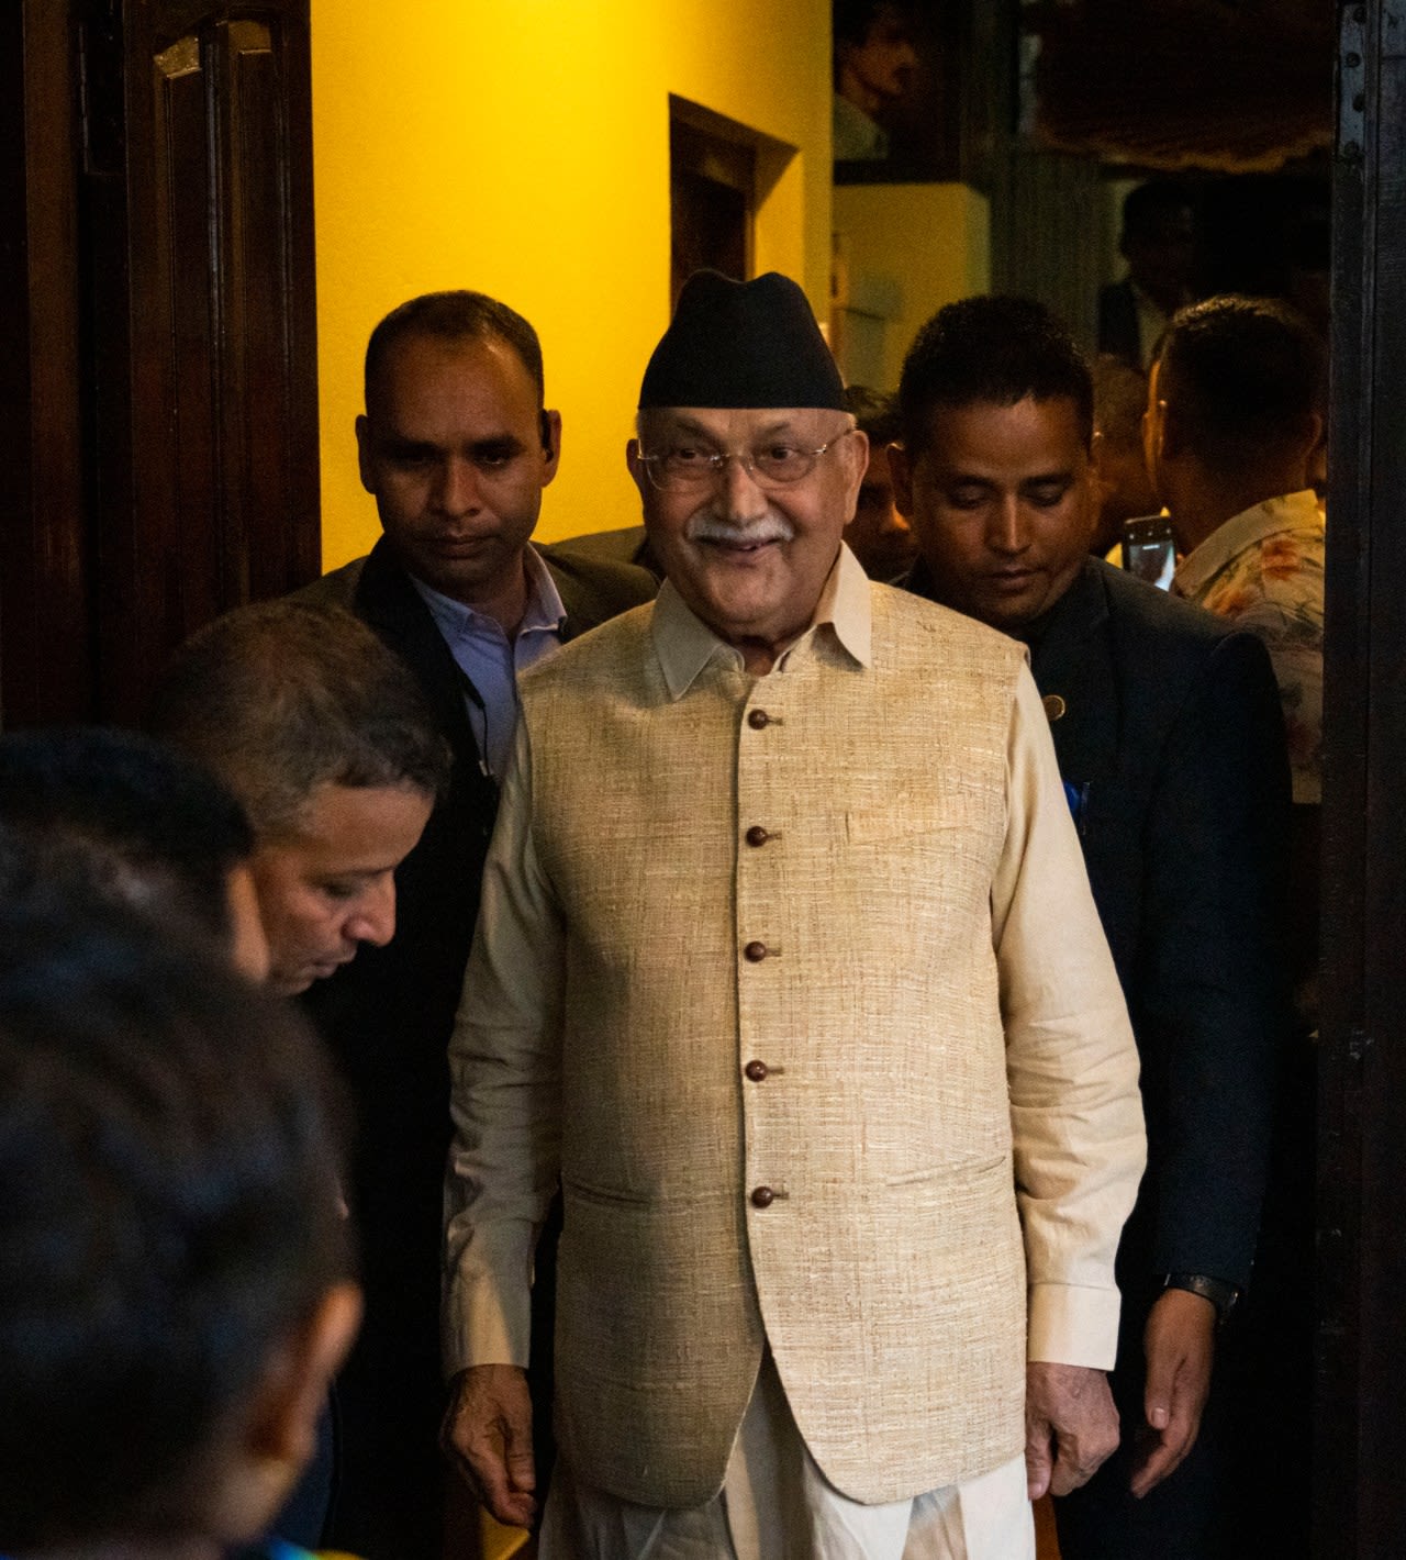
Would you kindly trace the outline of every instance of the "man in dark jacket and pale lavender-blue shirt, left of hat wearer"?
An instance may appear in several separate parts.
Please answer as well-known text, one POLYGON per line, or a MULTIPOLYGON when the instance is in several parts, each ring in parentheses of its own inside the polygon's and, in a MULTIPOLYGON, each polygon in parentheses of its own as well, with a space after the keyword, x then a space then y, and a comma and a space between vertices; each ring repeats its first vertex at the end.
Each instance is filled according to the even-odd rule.
POLYGON ((304 594, 350 607, 410 666, 454 769, 396 872, 395 939, 309 1003, 360 1117, 353 1203, 367 1315, 339 1388, 331 1540, 367 1560, 437 1560, 445 1050, 517 721, 515 674, 648 601, 655 583, 531 544, 562 420, 543 404, 537 332, 512 309, 471 292, 410 300, 371 334, 365 395, 360 476, 384 535, 304 594))

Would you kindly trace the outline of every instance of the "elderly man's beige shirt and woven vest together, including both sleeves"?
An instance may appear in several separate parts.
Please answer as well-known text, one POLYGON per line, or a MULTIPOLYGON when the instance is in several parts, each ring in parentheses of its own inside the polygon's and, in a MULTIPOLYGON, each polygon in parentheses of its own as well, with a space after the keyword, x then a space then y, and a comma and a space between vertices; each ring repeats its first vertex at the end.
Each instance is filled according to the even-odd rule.
MULTIPOLYGON (((857 1499, 1014 1455, 1025 1351, 1113 1362, 1113 1256, 1144 1161, 1127 1012, 1019 652, 871 585, 841 549, 815 621, 766 677, 665 585, 652 608, 529 672, 523 710, 451 1045, 448 1370, 526 1363, 534 1232, 560 1168, 576 1248, 563 1243, 559 1385, 577 1365, 618 1382, 630 1365, 604 1353, 629 1356, 641 1324, 663 1329, 660 1359, 679 1359, 660 1312, 673 1301, 654 1287, 673 1293, 680 1260, 704 1264, 687 1295, 705 1310, 721 1296, 696 1321, 704 1338, 733 1318, 737 1381, 708 1374, 716 1401, 685 1415, 698 1448, 669 1429, 674 1396, 657 1431, 637 1420, 641 1446, 679 1459, 677 1479, 648 1459, 602 1471, 591 1448, 602 1488, 660 1505, 716 1490, 763 1338, 799 1392, 807 1445, 857 1499), (715 1267, 740 1203, 747 1245, 715 1267), (616 1254, 621 1218, 635 1245, 616 1254), (872 1323, 861 1293, 827 1287, 836 1262, 846 1284, 875 1284, 872 1323), (1000 1381, 989 1401, 975 1388, 980 1424, 941 1434, 919 1420, 946 1409, 916 1390, 900 1401, 885 1376, 910 1382, 907 1351, 924 1348, 910 1307, 947 1314, 925 1264, 939 1287, 966 1285, 953 1324, 977 1354, 1013 1328, 1016 1343, 1014 1359, 1002 1342, 975 1362, 953 1335, 950 1368, 941 1348, 928 1357, 935 1406, 972 1370, 1000 1381), (624 1289, 582 1295, 582 1265, 624 1289), (844 1315, 879 1329, 868 1353, 844 1315), (863 1437, 847 1451, 818 1423, 846 1418, 846 1373, 896 1421, 855 1410, 888 1463, 875 1451, 871 1468, 863 1437)), ((651 1348, 640 1338, 652 1360, 651 1348)), ((577 1388, 563 1423, 579 1438, 620 1412, 577 1388)))

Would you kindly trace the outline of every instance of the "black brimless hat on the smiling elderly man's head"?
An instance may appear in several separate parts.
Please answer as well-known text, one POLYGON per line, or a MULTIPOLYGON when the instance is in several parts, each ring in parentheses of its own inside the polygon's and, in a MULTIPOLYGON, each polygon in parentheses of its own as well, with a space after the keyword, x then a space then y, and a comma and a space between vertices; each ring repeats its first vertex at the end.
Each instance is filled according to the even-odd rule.
POLYGON ((843 412, 844 381, 790 276, 735 282, 694 271, 640 385, 640 409, 655 406, 843 412))

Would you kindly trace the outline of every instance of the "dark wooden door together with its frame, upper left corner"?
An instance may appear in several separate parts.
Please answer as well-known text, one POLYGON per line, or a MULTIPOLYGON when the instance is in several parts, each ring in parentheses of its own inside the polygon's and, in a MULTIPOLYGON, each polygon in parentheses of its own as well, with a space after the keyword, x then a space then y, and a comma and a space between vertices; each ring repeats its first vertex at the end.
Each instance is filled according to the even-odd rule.
POLYGON ((320 573, 311 123, 307 0, 0 6, 0 725, 134 719, 175 640, 320 573), (218 140, 209 220, 167 246, 212 276, 204 460, 156 371, 200 343, 158 339, 151 303, 151 67, 187 27, 209 122, 267 106, 272 126, 218 140), (170 502, 158 456, 197 473, 195 501, 170 502))

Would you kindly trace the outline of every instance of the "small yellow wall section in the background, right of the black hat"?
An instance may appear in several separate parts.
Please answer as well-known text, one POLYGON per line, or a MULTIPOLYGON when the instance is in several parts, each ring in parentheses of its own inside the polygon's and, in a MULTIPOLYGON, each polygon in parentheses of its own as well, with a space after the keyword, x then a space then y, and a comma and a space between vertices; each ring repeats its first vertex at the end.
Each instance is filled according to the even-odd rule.
POLYGON ((991 287, 986 198, 966 184, 849 184, 833 220, 840 368, 849 384, 896 390, 919 328, 991 287))

